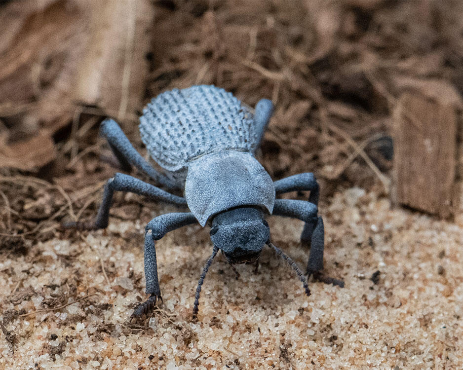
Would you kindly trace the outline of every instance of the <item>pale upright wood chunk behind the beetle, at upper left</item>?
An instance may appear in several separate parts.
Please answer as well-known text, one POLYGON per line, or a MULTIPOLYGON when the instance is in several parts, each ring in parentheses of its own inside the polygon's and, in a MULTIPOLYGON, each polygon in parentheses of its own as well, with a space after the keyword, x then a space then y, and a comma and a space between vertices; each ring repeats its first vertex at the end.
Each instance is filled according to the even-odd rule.
POLYGON ((127 112, 141 108, 153 7, 148 0, 85 4, 91 8, 92 17, 74 98, 122 120, 127 112))

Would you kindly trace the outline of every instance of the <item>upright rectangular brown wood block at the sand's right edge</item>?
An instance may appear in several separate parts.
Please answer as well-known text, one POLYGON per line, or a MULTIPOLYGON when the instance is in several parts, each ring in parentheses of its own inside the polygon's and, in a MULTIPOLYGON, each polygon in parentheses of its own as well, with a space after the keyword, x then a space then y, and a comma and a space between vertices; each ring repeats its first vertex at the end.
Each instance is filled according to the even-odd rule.
POLYGON ((394 112, 395 200, 447 218, 454 213, 459 99, 421 87, 405 89, 394 112))

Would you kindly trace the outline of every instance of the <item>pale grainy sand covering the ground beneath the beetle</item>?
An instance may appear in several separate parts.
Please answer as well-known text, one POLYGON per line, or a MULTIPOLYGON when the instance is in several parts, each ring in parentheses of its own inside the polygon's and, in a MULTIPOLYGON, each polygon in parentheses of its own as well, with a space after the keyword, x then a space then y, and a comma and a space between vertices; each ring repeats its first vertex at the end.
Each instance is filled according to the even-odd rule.
MULTIPOLYGON (((153 215, 172 210, 154 207, 153 215)), ((343 278, 344 289, 311 282, 305 296, 270 249, 257 273, 239 265, 238 280, 219 256, 196 323, 194 290, 212 249, 199 226, 157 243, 164 303, 137 323, 128 318, 145 298, 140 222, 112 218, 107 230, 83 232, 79 242, 53 239, 7 256, 1 367, 462 369, 463 230, 391 209, 357 188, 337 193, 321 213, 325 270, 343 278)), ((304 266, 302 223, 269 223, 274 244, 304 266)))

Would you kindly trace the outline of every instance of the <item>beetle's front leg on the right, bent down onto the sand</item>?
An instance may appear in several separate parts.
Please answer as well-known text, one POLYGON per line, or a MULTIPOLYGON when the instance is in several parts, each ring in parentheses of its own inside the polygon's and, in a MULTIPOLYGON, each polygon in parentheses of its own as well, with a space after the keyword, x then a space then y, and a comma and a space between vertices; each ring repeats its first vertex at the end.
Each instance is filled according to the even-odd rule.
POLYGON ((273 207, 273 215, 286 216, 306 222, 304 237, 310 238, 309 262, 306 273, 312 275, 315 280, 344 287, 344 281, 324 275, 323 250, 324 250, 324 227, 323 219, 317 215, 318 208, 313 203, 295 199, 276 199, 273 207))

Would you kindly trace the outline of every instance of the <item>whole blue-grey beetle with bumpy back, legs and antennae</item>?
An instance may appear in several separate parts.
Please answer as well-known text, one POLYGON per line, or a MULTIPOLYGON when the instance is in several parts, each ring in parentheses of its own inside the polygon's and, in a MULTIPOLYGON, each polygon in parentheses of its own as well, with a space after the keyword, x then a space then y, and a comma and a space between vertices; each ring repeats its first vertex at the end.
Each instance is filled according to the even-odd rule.
POLYGON ((156 185, 170 191, 183 190, 184 197, 129 175, 116 173, 108 180, 94 222, 69 222, 65 227, 98 229, 108 226, 114 191, 128 191, 188 208, 190 212, 155 217, 146 226, 145 277, 149 298, 132 317, 152 310, 161 298, 154 242, 167 232, 194 222, 210 226, 212 254, 200 275, 195 294, 196 317, 199 293, 207 270, 219 250, 231 263, 255 262, 268 245, 296 271, 310 295, 307 278, 298 266, 270 242, 265 217, 286 216, 305 222, 303 244, 310 246, 306 274, 343 287, 344 282, 321 273, 324 230, 318 216, 318 184, 312 173, 293 175, 273 182, 255 158, 273 107, 260 100, 254 111, 231 93, 215 86, 192 86, 159 94, 143 110, 140 133, 151 157, 164 169, 155 170, 130 144, 112 119, 101 124, 101 134, 122 169, 136 167, 156 185), (290 191, 310 191, 308 201, 276 199, 290 191))

